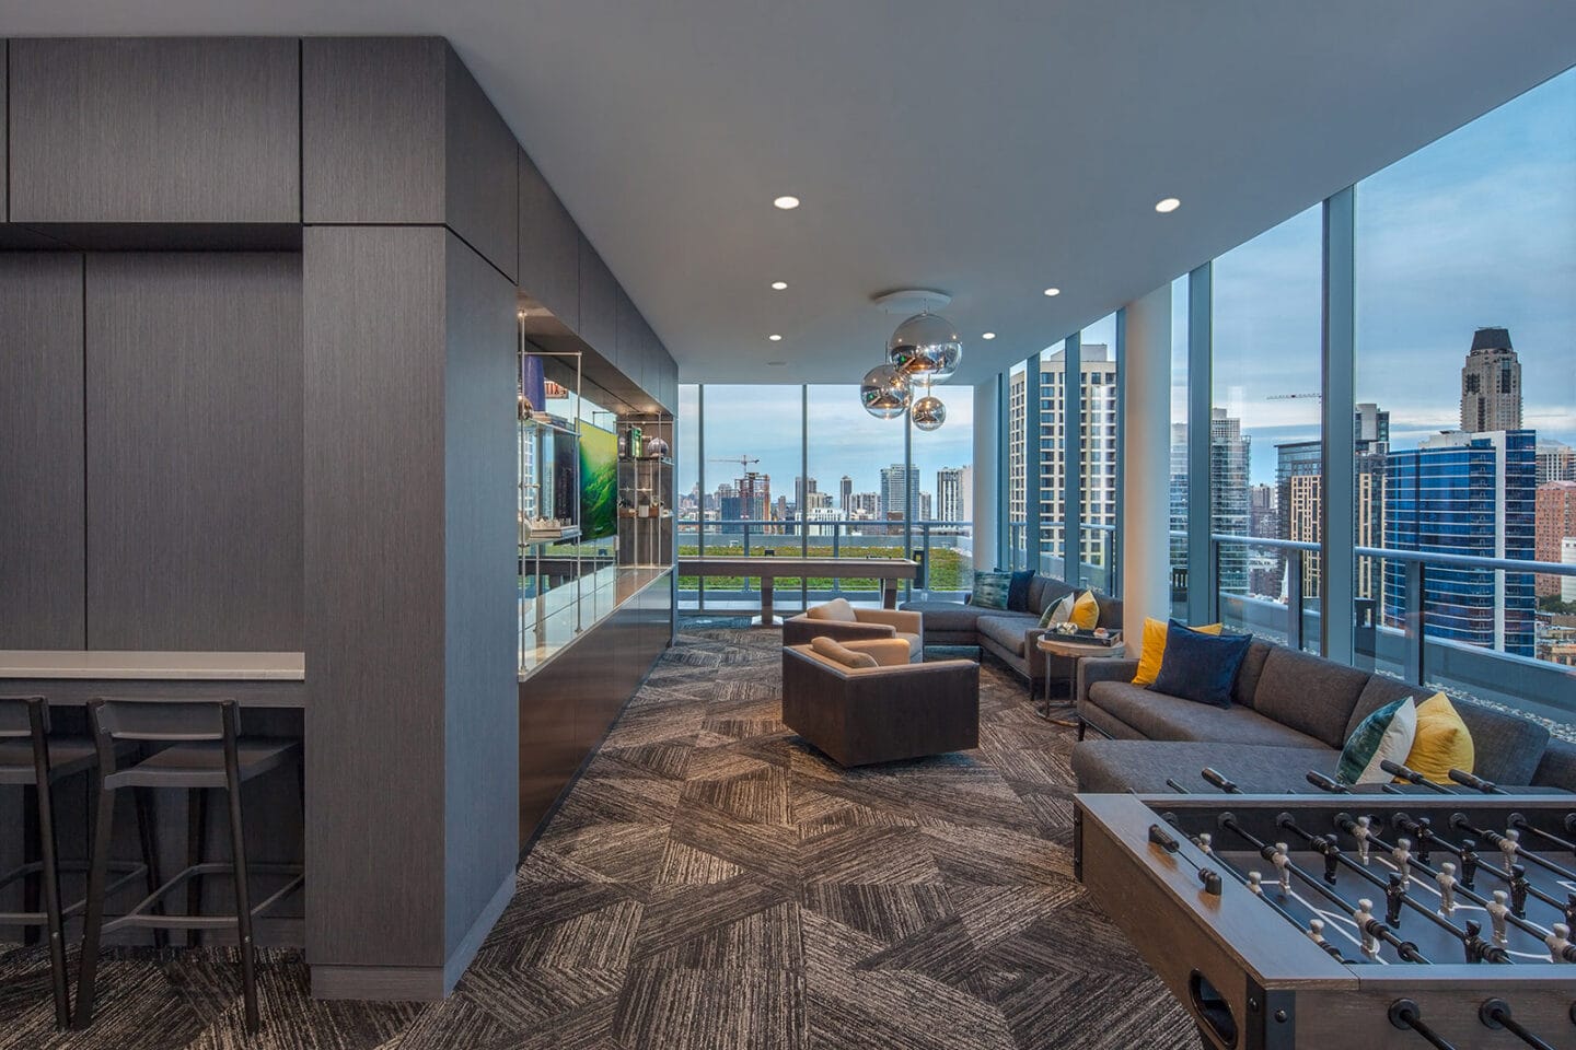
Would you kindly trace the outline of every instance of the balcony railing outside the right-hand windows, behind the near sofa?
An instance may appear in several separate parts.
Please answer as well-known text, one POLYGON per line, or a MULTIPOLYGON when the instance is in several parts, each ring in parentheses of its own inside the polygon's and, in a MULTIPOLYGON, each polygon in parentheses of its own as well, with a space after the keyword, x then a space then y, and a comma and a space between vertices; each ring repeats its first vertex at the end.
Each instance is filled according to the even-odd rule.
MULTIPOLYGON (((1210 553, 1215 579, 1221 581, 1215 619, 1297 649, 1318 649, 1319 545, 1217 534, 1210 537, 1210 553), (1245 568, 1250 582, 1232 587, 1221 576, 1223 568, 1228 573, 1245 568), (1266 575, 1278 579, 1278 597, 1264 593, 1262 587, 1254 592, 1251 581, 1262 586, 1266 575)), ((1576 565, 1373 546, 1357 546, 1354 554, 1365 581, 1354 601, 1355 663, 1404 682, 1502 704, 1559 726, 1576 726, 1576 617, 1560 623, 1556 614, 1533 612, 1529 625, 1533 653, 1522 655, 1447 636, 1439 625, 1445 609, 1429 597, 1429 579, 1445 579, 1444 573, 1478 575, 1477 581, 1486 582, 1491 593, 1502 595, 1507 584, 1532 592, 1535 575, 1576 576, 1576 565), (1393 565, 1392 581, 1399 582, 1392 589, 1388 616, 1387 562, 1393 565)), ((1185 568, 1180 578, 1173 573, 1173 587, 1177 586, 1184 593, 1174 593, 1174 600, 1185 597, 1185 568)), ((1494 604, 1497 612, 1489 609, 1485 622, 1492 623, 1497 616, 1504 638, 1504 603, 1494 604)))

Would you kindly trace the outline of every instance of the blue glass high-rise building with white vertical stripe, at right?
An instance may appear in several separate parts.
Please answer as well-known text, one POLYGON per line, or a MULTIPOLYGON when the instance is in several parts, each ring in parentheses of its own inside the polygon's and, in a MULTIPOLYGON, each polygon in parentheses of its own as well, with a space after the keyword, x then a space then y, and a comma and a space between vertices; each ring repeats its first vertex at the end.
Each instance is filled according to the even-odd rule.
MULTIPOLYGON (((1447 431, 1385 464, 1384 546, 1434 554, 1530 559, 1535 493, 1530 430, 1447 431)), ((1429 565, 1426 633, 1518 656, 1533 655, 1532 573, 1429 565)), ((1384 564, 1384 620, 1406 616, 1406 565, 1384 564)))

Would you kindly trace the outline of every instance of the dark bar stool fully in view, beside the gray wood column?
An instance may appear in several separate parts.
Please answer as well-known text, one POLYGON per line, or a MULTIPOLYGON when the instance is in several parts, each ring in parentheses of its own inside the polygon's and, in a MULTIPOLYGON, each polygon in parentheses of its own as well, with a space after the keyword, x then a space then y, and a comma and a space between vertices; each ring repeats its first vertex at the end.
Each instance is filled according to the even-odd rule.
MULTIPOLYGON (((76 1026, 93 1020, 93 984, 98 971, 99 941, 123 927, 153 930, 203 930, 235 926, 241 952, 241 987, 246 996, 246 1030, 257 1031, 257 959, 252 919, 274 907, 303 885, 299 864, 247 864, 246 834, 241 822, 241 784, 269 770, 301 768, 301 741, 243 738, 235 701, 93 701, 88 718, 98 749, 98 828, 93 839, 93 866, 88 872, 87 924, 82 930, 82 963, 77 979, 76 1026), (148 757, 121 767, 117 746, 136 741, 164 745, 148 757), (156 886, 126 915, 104 921, 106 861, 112 841, 115 792, 123 789, 181 787, 199 792, 192 808, 197 815, 188 826, 189 863, 156 886), (230 863, 202 861, 202 792, 222 787, 229 798, 230 863), (191 885, 206 875, 229 875, 235 883, 233 915, 151 913, 165 894, 186 885, 188 911, 195 911, 199 894, 191 885), (277 875, 282 885, 260 904, 252 904, 251 877, 277 875)), ((299 781, 298 781, 299 782, 299 781)), ((304 801, 304 800, 303 800, 304 801)))

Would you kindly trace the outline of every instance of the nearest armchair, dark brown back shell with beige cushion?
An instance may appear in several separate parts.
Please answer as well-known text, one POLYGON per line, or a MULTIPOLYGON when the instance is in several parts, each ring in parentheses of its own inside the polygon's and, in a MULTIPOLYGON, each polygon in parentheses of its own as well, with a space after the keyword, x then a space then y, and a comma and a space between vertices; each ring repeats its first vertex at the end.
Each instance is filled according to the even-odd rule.
POLYGON ((785 645, 783 723, 843 767, 977 748, 979 672, 972 660, 909 663, 895 638, 785 645), (865 655, 876 666, 845 663, 865 655))

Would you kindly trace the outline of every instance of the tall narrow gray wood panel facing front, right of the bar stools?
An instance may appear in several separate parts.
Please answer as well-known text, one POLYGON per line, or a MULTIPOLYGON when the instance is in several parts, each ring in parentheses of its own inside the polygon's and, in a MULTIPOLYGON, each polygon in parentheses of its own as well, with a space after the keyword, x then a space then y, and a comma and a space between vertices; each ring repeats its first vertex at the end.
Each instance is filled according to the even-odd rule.
POLYGON ((441 228, 304 242, 307 957, 444 954, 441 228))

